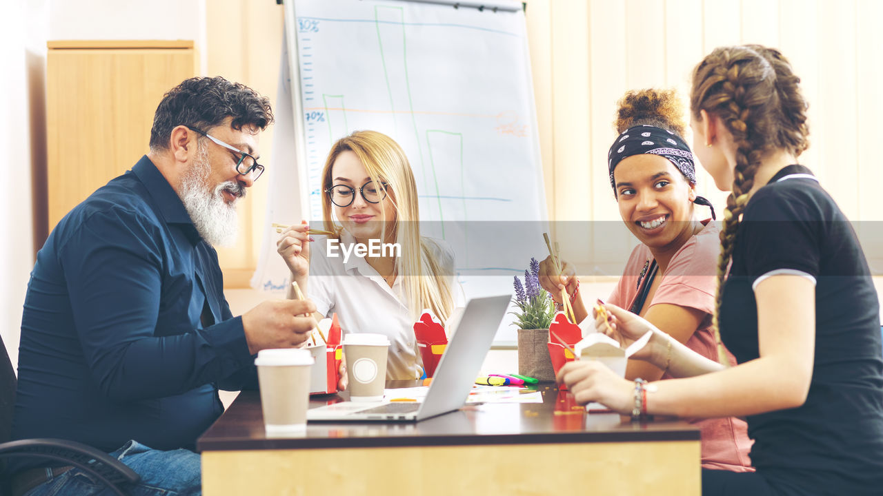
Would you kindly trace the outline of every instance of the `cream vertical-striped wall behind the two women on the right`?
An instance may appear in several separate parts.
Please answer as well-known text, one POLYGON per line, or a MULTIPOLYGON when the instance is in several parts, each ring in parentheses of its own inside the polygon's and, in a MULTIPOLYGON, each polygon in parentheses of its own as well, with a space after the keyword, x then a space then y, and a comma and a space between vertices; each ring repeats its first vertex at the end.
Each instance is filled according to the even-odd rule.
MULTIPOLYGON (((883 274, 876 131, 883 113, 883 2, 528 0, 526 16, 550 218, 581 221, 562 227, 567 233, 553 226, 553 234, 585 231, 583 243, 562 243, 579 274, 599 274, 592 267, 629 252, 630 239, 595 237, 592 244, 589 232, 591 222, 619 221, 606 159, 616 136, 616 101, 645 87, 675 87, 689 98, 695 64, 716 47, 741 43, 781 49, 794 65, 810 104, 811 147, 800 161, 851 221, 862 221, 865 253, 874 274, 883 274)), ((727 194, 697 169, 698 193, 720 213, 727 194)))

